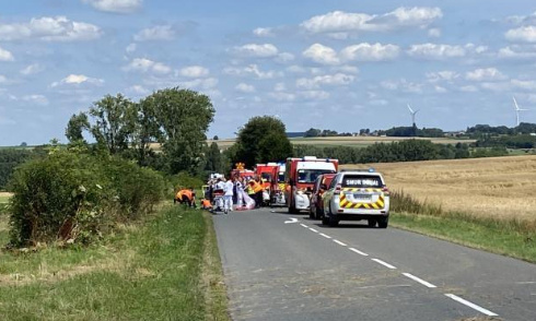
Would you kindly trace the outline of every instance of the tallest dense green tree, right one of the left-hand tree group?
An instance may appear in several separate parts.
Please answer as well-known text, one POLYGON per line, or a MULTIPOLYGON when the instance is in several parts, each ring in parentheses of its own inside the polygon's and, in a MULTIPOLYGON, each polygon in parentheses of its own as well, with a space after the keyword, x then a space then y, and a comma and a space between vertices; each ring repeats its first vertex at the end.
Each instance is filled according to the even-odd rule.
POLYGON ((207 130, 214 117, 210 98, 189 90, 166 88, 148 96, 159 123, 167 170, 194 173, 207 144, 207 130))

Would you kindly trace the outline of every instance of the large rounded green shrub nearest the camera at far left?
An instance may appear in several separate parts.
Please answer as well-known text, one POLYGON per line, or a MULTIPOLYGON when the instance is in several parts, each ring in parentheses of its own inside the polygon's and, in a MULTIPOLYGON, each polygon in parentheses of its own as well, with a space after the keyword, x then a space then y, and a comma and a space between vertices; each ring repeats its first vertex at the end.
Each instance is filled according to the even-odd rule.
POLYGON ((94 157, 58 151, 15 170, 10 183, 11 245, 98 235, 114 191, 94 157))

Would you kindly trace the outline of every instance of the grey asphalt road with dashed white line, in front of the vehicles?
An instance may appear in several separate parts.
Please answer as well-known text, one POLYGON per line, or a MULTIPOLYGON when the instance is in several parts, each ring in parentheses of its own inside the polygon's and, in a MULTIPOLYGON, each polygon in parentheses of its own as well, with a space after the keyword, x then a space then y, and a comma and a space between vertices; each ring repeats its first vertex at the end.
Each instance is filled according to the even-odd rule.
POLYGON ((233 320, 536 320, 534 264, 271 211, 213 217, 233 320))

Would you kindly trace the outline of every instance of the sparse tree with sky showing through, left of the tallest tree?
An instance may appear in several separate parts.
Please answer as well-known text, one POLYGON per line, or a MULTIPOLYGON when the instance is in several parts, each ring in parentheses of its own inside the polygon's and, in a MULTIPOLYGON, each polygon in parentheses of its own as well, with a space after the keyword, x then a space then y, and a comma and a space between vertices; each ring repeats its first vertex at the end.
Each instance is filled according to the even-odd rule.
POLYGON ((106 95, 93 104, 90 116, 94 124, 90 131, 98 145, 105 147, 110 154, 117 154, 128 148, 128 139, 133 131, 131 118, 133 103, 121 94, 106 95))

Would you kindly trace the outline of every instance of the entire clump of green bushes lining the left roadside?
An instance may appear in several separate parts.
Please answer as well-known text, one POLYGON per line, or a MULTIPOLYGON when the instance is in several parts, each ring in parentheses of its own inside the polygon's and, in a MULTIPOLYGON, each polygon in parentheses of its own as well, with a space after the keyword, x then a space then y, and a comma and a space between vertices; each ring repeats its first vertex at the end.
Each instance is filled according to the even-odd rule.
POLYGON ((85 152, 55 151, 16 169, 10 183, 10 243, 88 243, 161 200, 160 175, 85 152))

